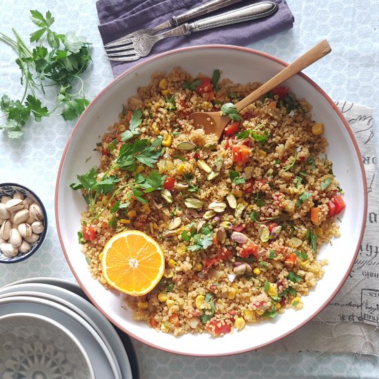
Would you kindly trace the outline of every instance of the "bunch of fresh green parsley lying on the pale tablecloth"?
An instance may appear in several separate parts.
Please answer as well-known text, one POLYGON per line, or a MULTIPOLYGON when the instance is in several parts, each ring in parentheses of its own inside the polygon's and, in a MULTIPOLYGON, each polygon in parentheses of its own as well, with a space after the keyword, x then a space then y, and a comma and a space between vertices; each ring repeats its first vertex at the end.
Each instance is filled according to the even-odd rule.
POLYGON ((12 139, 22 136, 22 127, 33 116, 35 121, 42 117, 61 115, 65 121, 76 119, 90 103, 85 98, 83 81, 79 75, 88 68, 91 61, 90 43, 73 32, 59 34, 51 29, 54 17, 48 11, 45 16, 38 10, 31 10, 31 19, 38 29, 30 34, 30 42, 37 43, 30 49, 12 28, 14 39, 0 33, 0 41, 10 45, 18 54, 16 63, 21 70, 21 85, 24 92, 21 100, 12 100, 6 94, 0 99, 0 110, 6 122, 0 129, 8 132, 12 139), (72 93, 72 87, 79 82, 80 89, 72 93), (52 110, 43 106, 45 87, 57 86, 57 104, 52 110))

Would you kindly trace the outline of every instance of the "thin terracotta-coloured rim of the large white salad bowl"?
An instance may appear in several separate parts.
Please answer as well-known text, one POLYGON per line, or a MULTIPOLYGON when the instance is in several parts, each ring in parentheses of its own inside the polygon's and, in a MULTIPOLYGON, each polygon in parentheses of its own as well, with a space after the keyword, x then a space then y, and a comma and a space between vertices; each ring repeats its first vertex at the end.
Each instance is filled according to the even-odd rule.
MULTIPOLYGON (((63 243, 61 232, 60 232, 60 227, 59 227, 59 214, 58 214, 57 203, 58 203, 58 194, 59 194, 59 179, 61 178, 61 170, 62 170, 62 167, 63 167, 63 162, 65 161, 65 154, 68 151, 68 147, 70 146, 72 138, 74 137, 76 129, 79 127, 79 124, 81 123, 81 120, 83 119, 83 117, 85 116, 85 114, 88 112, 88 110, 90 110, 90 108, 94 106, 94 104, 96 103, 96 101, 98 101, 99 98, 101 98, 101 96, 103 95, 103 93, 106 92, 110 87, 112 87, 112 85, 114 85, 115 83, 117 83, 121 79, 123 79, 124 76, 130 74, 131 72, 133 72, 134 70, 136 70, 136 68, 140 68, 141 66, 143 66, 143 65, 145 65, 147 63, 151 63, 152 61, 155 61, 156 59, 161 59, 162 57, 167 57, 168 55, 176 54, 178 52, 186 52, 186 51, 190 51, 190 50, 202 50, 202 49, 239 50, 239 51, 243 51, 243 52, 249 52, 249 53, 252 53, 252 54, 260 55, 260 57, 264 57, 264 58, 270 59, 270 60, 272 60, 272 61, 274 61, 276 63, 279 63, 280 65, 283 65, 283 66, 287 66, 289 64, 289 63, 287 63, 285 61, 282 61, 281 59, 278 59, 276 57, 273 57, 272 55, 267 54, 265 52, 260 52, 258 50, 254 50, 254 49, 251 49, 251 48, 243 48, 243 47, 240 47, 240 46, 232 46, 232 45, 201 45, 201 46, 192 46, 192 47, 189 47, 189 48, 180 48, 180 49, 176 49, 176 50, 170 50, 169 52, 164 52, 162 54, 158 54, 158 55, 156 55, 156 56, 154 56, 154 57, 152 57, 150 59, 147 59, 147 60, 145 60, 145 61, 143 61, 141 63, 137 63, 136 65, 134 65, 129 70, 126 70, 125 72, 123 72, 120 76, 117 76, 114 80, 112 80, 110 82, 110 84, 108 84, 105 88, 103 88, 103 90, 101 92, 99 92, 99 94, 97 94, 95 96, 95 98, 91 101, 90 105, 88 105, 88 107, 85 109, 85 111, 83 112, 83 114, 79 117, 79 120, 76 121, 74 129, 71 132, 71 135, 70 135, 70 137, 68 139, 67 144, 65 145, 65 150, 63 150, 63 154, 62 154, 62 158, 61 158, 61 163, 59 164, 59 170, 58 170, 58 175, 57 175, 57 183, 56 183, 56 187, 55 187, 55 220, 56 220, 56 223, 57 223, 57 232, 58 232, 58 236, 59 236, 59 242, 61 243, 61 247, 63 249, 63 254, 65 254, 65 259, 67 260, 68 265, 70 266, 72 274, 74 274, 77 282, 79 283, 79 285, 81 286, 81 288, 83 289, 83 291, 85 292, 85 294, 88 296, 88 298, 90 298, 90 300, 92 301, 92 303, 99 309, 99 311, 101 311, 101 313, 104 314, 105 317, 107 317, 114 325, 116 325, 116 327, 119 327, 119 329, 121 329, 122 331, 124 331, 126 334, 129 334, 133 338, 136 338, 136 340, 139 340, 139 341, 145 343, 146 345, 150 345, 152 347, 155 347, 156 349, 167 351, 167 353, 181 354, 183 356, 199 356, 199 355, 198 354, 182 353, 182 352, 178 353, 174 349, 167 349, 167 348, 155 345, 150 340, 144 340, 143 338, 141 338, 137 334, 134 334, 132 331, 125 330, 125 328, 122 325, 120 325, 118 322, 116 322, 115 320, 113 320, 113 318, 110 317, 99 306, 98 303, 96 303, 96 300, 92 296, 90 296, 89 292, 87 291, 87 289, 85 288, 85 286, 83 285, 83 283, 81 283, 81 280, 80 280, 79 276, 74 271, 74 267, 72 266, 72 264, 70 262, 70 259, 68 258, 67 252, 65 251, 65 245, 63 243)), ((300 75, 309 84, 311 84, 325 98, 325 100, 327 100, 327 102, 331 105, 331 107, 337 113, 337 115, 340 118, 340 120, 342 121, 342 123, 345 125, 345 128, 346 128, 347 132, 349 133, 350 139, 351 139, 351 141, 352 141, 352 143, 354 145, 354 149, 356 150, 356 154, 357 154, 359 165, 360 165, 360 174, 361 174, 361 177, 362 177, 363 189, 364 189, 364 192, 365 192, 364 199, 363 199, 363 201, 364 201, 363 216, 364 217, 363 217, 363 221, 362 221, 362 225, 361 225, 360 237, 359 237, 358 243, 356 245, 356 252, 354 254, 353 259, 351 260, 351 263, 349 265, 349 269, 347 270, 345 276, 342 278, 342 280, 340 281, 339 285, 337 286, 337 288, 335 289, 335 291, 333 292, 333 294, 331 294, 331 296, 329 296, 329 298, 327 298, 327 300, 325 300, 325 302, 321 305, 321 307, 317 311, 315 311, 314 314, 312 314, 305 321, 301 322, 299 325, 297 325, 293 329, 287 331, 285 334, 283 334, 283 335, 281 335, 281 336, 279 336, 277 338, 274 338, 274 339, 270 340, 269 342, 265 342, 265 343, 263 343, 261 345, 254 346, 254 347, 249 348, 249 349, 242 349, 242 350, 238 350, 237 349, 234 352, 225 353, 225 354, 201 354, 202 357, 232 356, 234 354, 245 353, 247 351, 252 351, 252 350, 260 349, 261 347, 265 347, 267 345, 271 345, 272 343, 277 342, 278 340, 281 340, 282 338, 285 338, 285 337, 289 336, 289 334, 294 333, 294 331, 300 329, 300 327, 303 327, 303 325, 307 324, 307 322, 309 322, 312 318, 316 317, 320 313, 320 311, 322 311, 322 309, 324 309, 330 303, 330 301, 334 298, 334 296, 336 296, 336 294, 338 293, 338 291, 340 290, 340 288, 342 287, 342 285, 345 283, 347 277, 349 276, 349 273, 350 273, 350 271, 351 271, 351 269, 352 269, 352 267, 354 265, 356 257, 358 256, 358 252, 359 252, 359 249, 360 249, 360 244, 362 243, 363 234, 365 232, 365 226, 366 226, 365 221, 366 221, 366 216, 367 216, 367 182, 366 182, 365 168, 363 166, 362 157, 361 157, 361 154, 360 154, 358 143, 357 143, 356 138, 355 138, 355 136, 354 136, 354 134, 353 134, 353 132, 352 132, 352 130, 350 128, 349 123, 347 123, 345 117, 342 115, 342 112, 340 112, 340 110, 338 109, 338 107, 336 106, 336 104, 334 103, 334 101, 332 101, 330 99, 330 97, 316 83, 314 83, 314 81, 312 81, 311 79, 309 79, 309 77, 307 75, 303 74, 302 72, 300 72, 300 74, 298 74, 298 75, 300 75)))

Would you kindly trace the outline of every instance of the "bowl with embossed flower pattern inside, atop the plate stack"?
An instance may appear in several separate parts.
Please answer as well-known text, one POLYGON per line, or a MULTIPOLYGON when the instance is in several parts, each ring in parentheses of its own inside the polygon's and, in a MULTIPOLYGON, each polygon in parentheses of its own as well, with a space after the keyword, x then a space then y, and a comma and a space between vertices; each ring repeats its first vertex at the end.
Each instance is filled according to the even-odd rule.
POLYGON ((38 314, 0 317, 1 378, 94 379, 87 352, 68 329, 38 314))

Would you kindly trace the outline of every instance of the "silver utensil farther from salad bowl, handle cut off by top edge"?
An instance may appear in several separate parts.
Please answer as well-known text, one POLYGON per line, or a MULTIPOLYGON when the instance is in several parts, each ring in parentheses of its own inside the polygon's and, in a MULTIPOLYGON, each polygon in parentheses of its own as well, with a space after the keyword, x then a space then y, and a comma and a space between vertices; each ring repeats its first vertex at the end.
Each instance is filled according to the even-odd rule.
POLYGON ((147 29, 136 30, 135 32, 127 34, 126 36, 123 36, 119 39, 116 39, 110 43, 106 43, 104 45, 104 47, 110 48, 111 46, 122 45, 123 43, 130 42, 129 39, 141 37, 141 35, 143 35, 143 34, 148 35, 148 36, 153 36, 157 32, 161 32, 161 30, 174 28, 176 26, 181 25, 181 23, 185 23, 189 20, 196 19, 196 17, 199 17, 202 14, 214 12, 215 10, 224 8, 226 6, 230 6, 234 3, 238 3, 238 1, 242 1, 242 0, 212 0, 212 1, 208 1, 207 3, 204 3, 203 5, 198 6, 196 8, 193 8, 191 10, 188 10, 187 12, 185 12, 183 14, 179 14, 178 16, 172 16, 170 20, 167 20, 164 23, 157 25, 155 28, 147 28, 147 29))

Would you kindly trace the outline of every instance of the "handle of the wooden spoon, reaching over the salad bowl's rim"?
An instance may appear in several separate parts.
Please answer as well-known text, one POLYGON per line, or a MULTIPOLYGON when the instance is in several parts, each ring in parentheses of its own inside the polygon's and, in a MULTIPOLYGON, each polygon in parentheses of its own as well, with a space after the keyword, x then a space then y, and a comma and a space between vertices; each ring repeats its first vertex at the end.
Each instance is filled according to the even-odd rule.
POLYGON ((236 103, 238 112, 243 110, 243 108, 247 107, 247 105, 252 103, 254 100, 259 99, 260 96, 263 96, 264 94, 267 94, 267 92, 278 87, 278 85, 283 83, 283 81, 286 81, 301 70, 304 70, 312 63, 318 61, 318 59, 325 57, 325 55, 329 54, 329 52, 331 52, 331 47, 329 46, 327 40, 324 39, 324 41, 318 43, 314 46, 314 48, 311 48, 311 50, 296 59, 296 61, 292 62, 290 65, 287 65, 286 68, 276 74, 272 79, 269 79, 269 81, 265 84, 261 85, 260 88, 247 95, 245 99, 238 101, 238 103, 236 103))

